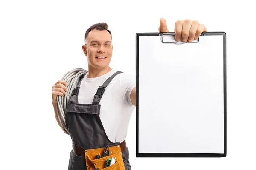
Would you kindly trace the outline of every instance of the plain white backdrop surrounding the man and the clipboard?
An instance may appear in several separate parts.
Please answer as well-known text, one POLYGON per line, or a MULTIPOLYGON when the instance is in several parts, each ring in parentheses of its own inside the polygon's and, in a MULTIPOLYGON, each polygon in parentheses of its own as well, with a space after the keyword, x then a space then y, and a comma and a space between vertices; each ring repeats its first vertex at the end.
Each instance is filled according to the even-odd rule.
POLYGON ((255 15, 249 0, 1 1, 0 169, 67 169, 71 139, 55 120, 51 87, 66 71, 87 69, 85 31, 107 23, 111 67, 135 76, 135 33, 158 32, 160 17, 169 31, 189 18, 227 33, 227 157, 136 158, 134 112, 126 138, 132 169, 255 169, 255 15))

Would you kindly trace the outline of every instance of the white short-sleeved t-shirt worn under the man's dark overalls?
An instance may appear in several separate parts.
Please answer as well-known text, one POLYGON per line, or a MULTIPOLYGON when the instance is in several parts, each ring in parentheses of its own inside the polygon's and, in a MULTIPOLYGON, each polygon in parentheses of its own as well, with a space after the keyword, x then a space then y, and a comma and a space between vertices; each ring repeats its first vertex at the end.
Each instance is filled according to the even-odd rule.
MULTIPOLYGON (((100 77, 87 78, 87 74, 81 81, 78 103, 92 104, 97 89, 116 70, 112 69, 100 77)), ((135 106, 131 103, 131 91, 136 86, 134 77, 130 74, 120 73, 105 88, 99 117, 111 142, 123 142, 128 130, 128 124, 135 106)))

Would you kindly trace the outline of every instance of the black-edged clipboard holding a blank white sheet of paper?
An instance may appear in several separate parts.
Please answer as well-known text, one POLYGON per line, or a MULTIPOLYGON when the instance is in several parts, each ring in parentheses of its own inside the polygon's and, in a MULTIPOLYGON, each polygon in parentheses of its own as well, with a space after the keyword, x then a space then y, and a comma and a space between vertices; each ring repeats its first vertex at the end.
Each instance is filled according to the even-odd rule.
POLYGON ((226 33, 136 34, 136 157, 226 157, 226 33))

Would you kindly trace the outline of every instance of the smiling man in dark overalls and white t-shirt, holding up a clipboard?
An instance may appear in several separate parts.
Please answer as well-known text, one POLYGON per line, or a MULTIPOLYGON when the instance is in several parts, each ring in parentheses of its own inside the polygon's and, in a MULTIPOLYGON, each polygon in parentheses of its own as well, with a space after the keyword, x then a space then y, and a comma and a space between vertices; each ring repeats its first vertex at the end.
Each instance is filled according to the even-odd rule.
MULTIPOLYGON (((169 32, 163 18, 160 19, 158 30, 169 32)), ((177 20, 174 31, 177 41, 192 42, 207 30, 198 21, 187 19, 177 20)), ((135 81, 129 74, 109 67, 113 51, 111 40, 106 23, 94 24, 85 33, 82 50, 87 56, 88 73, 77 83, 67 107, 66 123, 73 142, 69 170, 102 169, 100 166, 105 164, 107 158, 111 158, 111 154, 119 154, 112 153, 113 148, 120 151, 119 156, 116 156, 119 169, 131 170, 125 137, 131 113, 136 106, 135 81), (104 148, 111 152, 104 155, 104 148), (99 156, 95 156, 98 153, 90 155, 93 149, 101 150, 99 156)), ((65 85, 66 82, 59 80, 52 86, 55 113, 57 96, 66 94, 65 85)), ((111 166, 117 167, 116 164, 111 166)))

